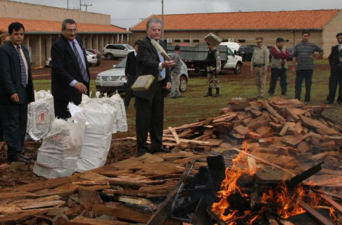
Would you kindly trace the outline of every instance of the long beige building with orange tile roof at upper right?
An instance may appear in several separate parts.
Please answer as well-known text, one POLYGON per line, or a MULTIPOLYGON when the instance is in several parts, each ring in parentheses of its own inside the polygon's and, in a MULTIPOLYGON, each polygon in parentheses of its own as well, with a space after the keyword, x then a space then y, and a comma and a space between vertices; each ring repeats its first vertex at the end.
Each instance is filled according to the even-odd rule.
MULTIPOLYGON (((146 23, 151 15, 129 30, 133 43, 146 36, 146 23)), ((324 49, 329 56, 336 44, 336 33, 342 32, 342 11, 258 11, 236 13, 194 13, 164 15, 164 39, 169 45, 205 43, 203 37, 213 32, 223 41, 241 45, 255 44, 255 37, 264 38, 266 46, 273 46, 278 37, 288 40, 286 47, 293 48, 301 41, 303 30, 310 30, 310 41, 324 49)))

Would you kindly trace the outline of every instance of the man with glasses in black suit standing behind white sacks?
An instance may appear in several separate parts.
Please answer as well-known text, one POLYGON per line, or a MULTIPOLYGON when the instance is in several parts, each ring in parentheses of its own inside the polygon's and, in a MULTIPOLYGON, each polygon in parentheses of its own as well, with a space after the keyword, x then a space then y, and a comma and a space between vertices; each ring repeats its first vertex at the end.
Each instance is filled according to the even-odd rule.
POLYGON ((56 117, 67 119, 68 103, 79 105, 82 94, 89 95, 90 73, 75 20, 65 19, 62 33, 51 47, 51 89, 56 117))

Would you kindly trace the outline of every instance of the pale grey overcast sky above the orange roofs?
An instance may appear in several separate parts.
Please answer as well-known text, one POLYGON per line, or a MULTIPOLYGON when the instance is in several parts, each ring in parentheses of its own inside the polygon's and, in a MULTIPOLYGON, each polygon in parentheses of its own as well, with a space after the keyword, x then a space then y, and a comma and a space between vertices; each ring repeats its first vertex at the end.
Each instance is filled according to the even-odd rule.
MULTIPOLYGON (((16 0, 67 8, 68 0, 16 0)), ((81 0, 89 12, 109 14, 111 24, 132 27, 152 14, 162 13, 162 0, 81 0)), ((69 0, 69 8, 80 8, 80 0, 69 0)), ((289 11, 342 8, 341 0, 164 0, 164 14, 221 13, 236 11, 289 11)), ((82 7, 85 11, 85 7, 82 7)), ((310 20, 310 18, 308 18, 310 20)))

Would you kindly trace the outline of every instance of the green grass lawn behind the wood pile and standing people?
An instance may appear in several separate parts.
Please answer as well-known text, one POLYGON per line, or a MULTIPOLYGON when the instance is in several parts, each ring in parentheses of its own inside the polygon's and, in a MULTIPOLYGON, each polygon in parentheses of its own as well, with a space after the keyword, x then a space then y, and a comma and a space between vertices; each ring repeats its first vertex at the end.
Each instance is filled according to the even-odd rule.
MULTIPOLYGON (((327 60, 315 61, 315 70, 312 78, 311 88, 311 104, 319 105, 325 101, 329 91, 329 63, 327 60)), ((291 65, 291 63, 290 63, 291 65)), ((205 77, 190 77, 188 83, 188 90, 184 93, 185 98, 173 99, 170 97, 165 98, 165 115, 164 115, 164 127, 177 127, 182 124, 190 124, 198 122, 198 120, 205 119, 207 117, 216 117, 220 108, 226 107, 227 103, 235 97, 249 98, 258 95, 253 75, 248 72, 249 65, 243 65, 243 73, 241 75, 233 75, 232 72, 224 72, 224 75, 220 75, 221 84, 221 97, 204 98, 203 95, 207 92, 207 80, 205 77)), ((291 67, 288 70, 288 92, 286 98, 294 98, 294 83, 296 76, 292 74, 291 67)), ((267 87, 266 93, 270 83, 270 72, 267 74, 267 87)), ((39 91, 42 89, 51 89, 50 80, 37 80, 34 81, 34 89, 39 91)), ((91 91, 93 91, 93 97, 95 89, 95 82, 91 80, 91 91)), ((214 91, 215 94, 215 91, 214 91)), ((279 82, 277 84, 275 95, 280 95, 279 82)), ((303 84, 302 100, 305 94, 305 84, 303 84)), ((268 94, 265 94, 267 100, 268 94)), ((125 133, 115 134, 115 138, 121 138, 125 136, 135 136, 135 110, 134 110, 134 98, 131 105, 127 110, 127 122, 129 124, 129 131, 125 133)), ((325 111, 325 115, 331 117, 337 122, 342 122, 342 118, 339 117, 341 113, 341 106, 336 103, 331 105, 325 111)))

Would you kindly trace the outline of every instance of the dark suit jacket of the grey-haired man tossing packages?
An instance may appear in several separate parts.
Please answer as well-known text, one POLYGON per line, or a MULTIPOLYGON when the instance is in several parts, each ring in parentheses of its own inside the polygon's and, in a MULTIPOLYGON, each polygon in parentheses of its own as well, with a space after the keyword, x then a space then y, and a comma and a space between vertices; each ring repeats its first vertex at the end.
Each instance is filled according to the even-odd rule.
MULTIPOLYGON (((160 46, 166 51, 166 44, 164 41, 159 40, 160 46)), ((160 63, 158 52, 155 47, 151 44, 151 39, 145 37, 139 42, 139 50, 137 54, 137 77, 143 75, 153 75, 155 78, 150 88, 147 91, 134 91, 134 95, 140 98, 151 101, 156 92, 159 70, 158 65, 160 63)), ((163 86, 166 86, 167 82, 171 82, 170 70, 165 68, 166 75, 163 79, 163 86)), ((164 96, 167 96, 167 90, 163 90, 164 96)))

